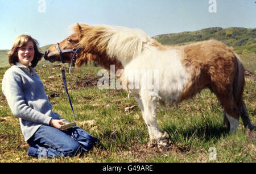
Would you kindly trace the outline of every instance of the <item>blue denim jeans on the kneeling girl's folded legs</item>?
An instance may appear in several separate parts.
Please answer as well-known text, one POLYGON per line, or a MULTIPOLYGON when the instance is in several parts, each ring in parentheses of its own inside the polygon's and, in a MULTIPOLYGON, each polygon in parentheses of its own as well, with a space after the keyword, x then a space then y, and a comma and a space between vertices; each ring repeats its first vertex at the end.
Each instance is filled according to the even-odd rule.
POLYGON ((54 127, 42 125, 27 141, 30 145, 28 155, 38 158, 75 156, 89 151, 97 142, 97 138, 77 126, 60 131, 54 127))

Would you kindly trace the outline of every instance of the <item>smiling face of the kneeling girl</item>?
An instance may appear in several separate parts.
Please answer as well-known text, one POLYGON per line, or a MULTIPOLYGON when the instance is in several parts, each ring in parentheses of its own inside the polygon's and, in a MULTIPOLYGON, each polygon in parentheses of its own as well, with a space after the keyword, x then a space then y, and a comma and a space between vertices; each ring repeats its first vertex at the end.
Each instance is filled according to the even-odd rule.
POLYGON ((27 45, 18 49, 18 62, 28 67, 30 62, 34 59, 34 55, 34 44, 29 40, 27 45))

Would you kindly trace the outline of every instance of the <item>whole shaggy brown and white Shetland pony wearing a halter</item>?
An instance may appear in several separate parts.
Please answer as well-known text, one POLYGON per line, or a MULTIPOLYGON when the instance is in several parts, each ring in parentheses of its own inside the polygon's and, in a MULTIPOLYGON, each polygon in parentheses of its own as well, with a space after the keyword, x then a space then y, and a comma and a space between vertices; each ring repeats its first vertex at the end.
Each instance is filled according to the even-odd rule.
MULTIPOLYGON (((237 129, 240 116, 245 127, 254 129, 242 100, 245 86, 243 65, 232 48, 222 42, 211 39, 171 47, 160 44, 141 30, 126 27, 77 23, 73 31, 59 43, 60 48, 81 46, 77 67, 92 61, 108 70, 110 65, 115 65, 123 88, 133 94, 141 107, 150 142, 156 140, 161 144, 168 138, 167 132, 161 131, 156 121, 157 103, 171 105, 195 96, 204 88, 216 94, 224 107, 224 123, 231 132, 237 129), (131 78, 131 70, 157 72, 152 80, 158 82, 157 88, 147 88, 147 83, 142 82, 142 74, 139 78, 131 78), (137 88, 130 88, 129 84, 133 83, 137 88)), ((70 62, 70 53, 63 56, 70 62)), ((46 51, 44 59, 60 61, 55 45, 46 51)))

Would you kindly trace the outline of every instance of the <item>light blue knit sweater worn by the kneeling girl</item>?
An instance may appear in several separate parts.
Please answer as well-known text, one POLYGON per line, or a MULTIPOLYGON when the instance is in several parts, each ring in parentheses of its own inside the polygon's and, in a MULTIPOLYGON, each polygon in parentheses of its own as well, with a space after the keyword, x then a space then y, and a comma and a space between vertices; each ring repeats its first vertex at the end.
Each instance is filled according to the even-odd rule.
POLYGON ((40 126, 49 125, 52 118, 60 119, 59 114, 53 113, 43 82, 32 67, 16 63, 7 69, 2 80, 2 91, 11 111, 19 117, 25 141, 40 126))

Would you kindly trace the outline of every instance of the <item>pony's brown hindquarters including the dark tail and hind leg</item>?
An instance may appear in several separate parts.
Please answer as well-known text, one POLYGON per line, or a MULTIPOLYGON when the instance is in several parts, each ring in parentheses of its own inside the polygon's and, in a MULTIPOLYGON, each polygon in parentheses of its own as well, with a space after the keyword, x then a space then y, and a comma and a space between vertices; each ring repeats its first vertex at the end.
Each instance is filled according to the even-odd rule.
MULTIPOLYGON (((181 62, 191 74, 191 79, 179 101, 192 97, 207 87, 216 94, 225 113, 238 119, 245 79, 242 64, 232 48, 217 40, 208 40, 184 46, 183 49, 181 62)), ((245 115, 241 117, 247 120, 245 115)), ((225 114, 224 122, 229 125, 225 114)))

